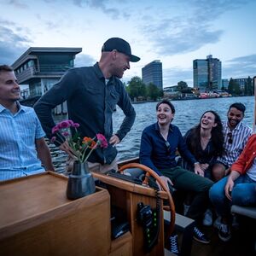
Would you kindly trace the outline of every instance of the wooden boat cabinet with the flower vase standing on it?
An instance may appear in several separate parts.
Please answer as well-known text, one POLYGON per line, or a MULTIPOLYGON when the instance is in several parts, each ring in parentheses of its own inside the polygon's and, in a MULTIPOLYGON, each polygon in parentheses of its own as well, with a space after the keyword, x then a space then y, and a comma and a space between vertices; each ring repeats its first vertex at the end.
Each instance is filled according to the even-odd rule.
POLYGON ((108 191, 69 201, 66 187, 67 178, 49 173, 0 184, 1 255, 108 255, 108 191))

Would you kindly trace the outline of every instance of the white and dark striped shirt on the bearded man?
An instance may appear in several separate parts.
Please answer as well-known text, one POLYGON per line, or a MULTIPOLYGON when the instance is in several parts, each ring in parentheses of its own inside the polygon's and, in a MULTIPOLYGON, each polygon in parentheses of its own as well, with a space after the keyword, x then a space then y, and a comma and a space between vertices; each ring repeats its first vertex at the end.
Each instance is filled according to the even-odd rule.
POLYGON ((222 157, 218 157, 218 161, 224 163, 226 166, 231 166, 241 154, 241 151, 245 147, 248 138, 253 134, 253 131, 249 126, 241 122, 236 125, 233 131, 230 130, 227 121, 223 122, 222 125, 224 132, 224 154, 222 157), (232 143, 229 143, 229 133, 232 135, 232 143))

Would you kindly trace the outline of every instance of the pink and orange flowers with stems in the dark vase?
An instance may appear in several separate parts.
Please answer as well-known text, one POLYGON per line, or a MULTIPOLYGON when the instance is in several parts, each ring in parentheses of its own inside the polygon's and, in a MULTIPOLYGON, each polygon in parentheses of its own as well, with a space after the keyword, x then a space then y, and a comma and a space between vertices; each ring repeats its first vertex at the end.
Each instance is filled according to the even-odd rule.
POLYGON ((51 142, 54 143, 64 143, 67 140, 69 147, 72 149, 68 154, 74 159, 78 160, 80 163, 84 163, 88 160, 90 154, 96 148, 107 148, 108 142, 106 138, 101 134, 97 133, 96 137, 80 137, 77 128, 78 123, 74 123, 73 120, 63 120, 59 124, 52 128, 53 137, 51 142), (74 129, 72 133, 70 129, 74 129), (60 136, 61 133, 61 136, 60 136), (61 140, 61 141, 60 141, 61 140))

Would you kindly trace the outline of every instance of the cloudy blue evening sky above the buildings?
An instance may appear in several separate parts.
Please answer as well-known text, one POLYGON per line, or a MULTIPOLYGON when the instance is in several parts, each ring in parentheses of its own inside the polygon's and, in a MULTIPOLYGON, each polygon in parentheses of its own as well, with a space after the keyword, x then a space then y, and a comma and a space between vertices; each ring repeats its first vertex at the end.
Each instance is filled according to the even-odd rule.
POLYGON ((223 79, 247 78, 256 75, 255 24, 255 0, 0 0, 0 63, 29 47, 82 47, 75 64, 87 66, 119 37, 141 57, 124 81, 160 60, 164 87, 193 85, 193 60, 209 54, 223 79))

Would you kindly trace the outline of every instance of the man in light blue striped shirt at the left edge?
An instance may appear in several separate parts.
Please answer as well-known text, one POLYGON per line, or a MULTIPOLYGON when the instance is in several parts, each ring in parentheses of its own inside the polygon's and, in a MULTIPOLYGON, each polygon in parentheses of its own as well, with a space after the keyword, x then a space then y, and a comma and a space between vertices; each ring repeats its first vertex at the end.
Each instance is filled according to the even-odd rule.
POLYGON ((54 171, 38 117, 19 99, 12 67, 0 66, 0 181, 44 172, 44 168, 54 171))

